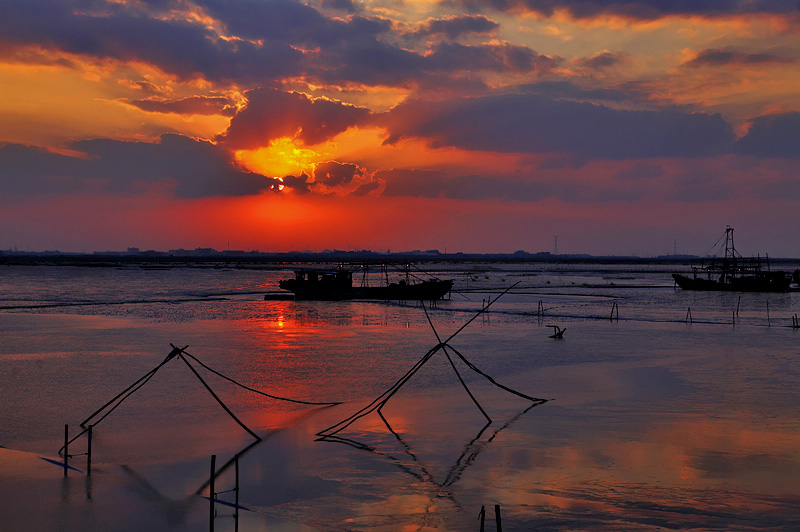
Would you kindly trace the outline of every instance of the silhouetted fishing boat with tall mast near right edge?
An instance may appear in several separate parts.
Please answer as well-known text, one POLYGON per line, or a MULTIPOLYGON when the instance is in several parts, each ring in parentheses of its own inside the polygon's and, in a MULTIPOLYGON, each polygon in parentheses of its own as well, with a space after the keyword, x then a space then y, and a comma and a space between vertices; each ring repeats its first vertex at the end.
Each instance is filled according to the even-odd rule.
POLYGON ((725 255, 692 266, 692 275, 673 273, 672 277, 684 290, 786 292, 792 274, 770 271, 769 257, 745 258, 733 246, 733 228, 725 229, 725 255))

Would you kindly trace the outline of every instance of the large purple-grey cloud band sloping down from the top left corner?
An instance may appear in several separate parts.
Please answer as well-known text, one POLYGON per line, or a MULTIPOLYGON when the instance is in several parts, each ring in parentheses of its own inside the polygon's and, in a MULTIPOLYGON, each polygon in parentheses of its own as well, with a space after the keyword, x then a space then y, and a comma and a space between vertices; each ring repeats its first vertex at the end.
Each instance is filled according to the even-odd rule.
POLYGON ((38 45, 120 61, 144 61, 183 79, 255 82, 303 71, 303 54, 282 41, 225 41, 185 19, 159 19, 106 3, 98 12, 65 2, 12 0, 0 17, 0 47, 38 45))

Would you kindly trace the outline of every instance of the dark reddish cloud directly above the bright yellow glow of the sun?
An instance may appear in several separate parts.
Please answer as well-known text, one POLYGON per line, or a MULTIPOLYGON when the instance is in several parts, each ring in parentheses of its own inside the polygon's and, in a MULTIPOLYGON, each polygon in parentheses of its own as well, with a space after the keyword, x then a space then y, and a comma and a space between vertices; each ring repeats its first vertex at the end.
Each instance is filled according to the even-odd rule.
POLYGON ((318 144, 366 120, 368 109, 329 100, 311 100, 303 94, 261 88, 248 91, 247 107, 220 136, 234 149, 255 149, 281 137, 318 144))

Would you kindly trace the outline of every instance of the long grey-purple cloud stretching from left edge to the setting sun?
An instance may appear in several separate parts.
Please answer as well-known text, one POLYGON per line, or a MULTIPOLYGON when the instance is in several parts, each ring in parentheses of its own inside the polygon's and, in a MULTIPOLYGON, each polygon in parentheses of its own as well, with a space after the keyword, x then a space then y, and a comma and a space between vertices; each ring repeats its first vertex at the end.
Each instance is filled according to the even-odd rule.
POLYGON ((42 148, 0 148, 0 190, 18 193, 135 193, 160 183, 179 197, 255 194, 272 180, 239 170, 230 153, 206 141, 162 135, 160 142, 109 139, 75 142, 88 157, 70 157, 42 148))

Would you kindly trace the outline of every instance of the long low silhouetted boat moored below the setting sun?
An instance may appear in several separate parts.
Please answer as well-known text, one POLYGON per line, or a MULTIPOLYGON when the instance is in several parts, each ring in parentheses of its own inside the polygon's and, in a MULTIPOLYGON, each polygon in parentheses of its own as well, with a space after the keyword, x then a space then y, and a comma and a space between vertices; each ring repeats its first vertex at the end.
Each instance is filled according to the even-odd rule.
MULTIPOLYGON (((294 294, 295 299, 341 301, 345 299, 379 299, 384 301, 436 300, 446 296, 453 281, 430 279, 412 282, 408 277, 383 286, 353 286, 353 271, 347 268, 333 270, 296 270, 294 279, 284 279, 279 286, 294 294)), ((366 275, 365 275, 366 278, 366 275)))

